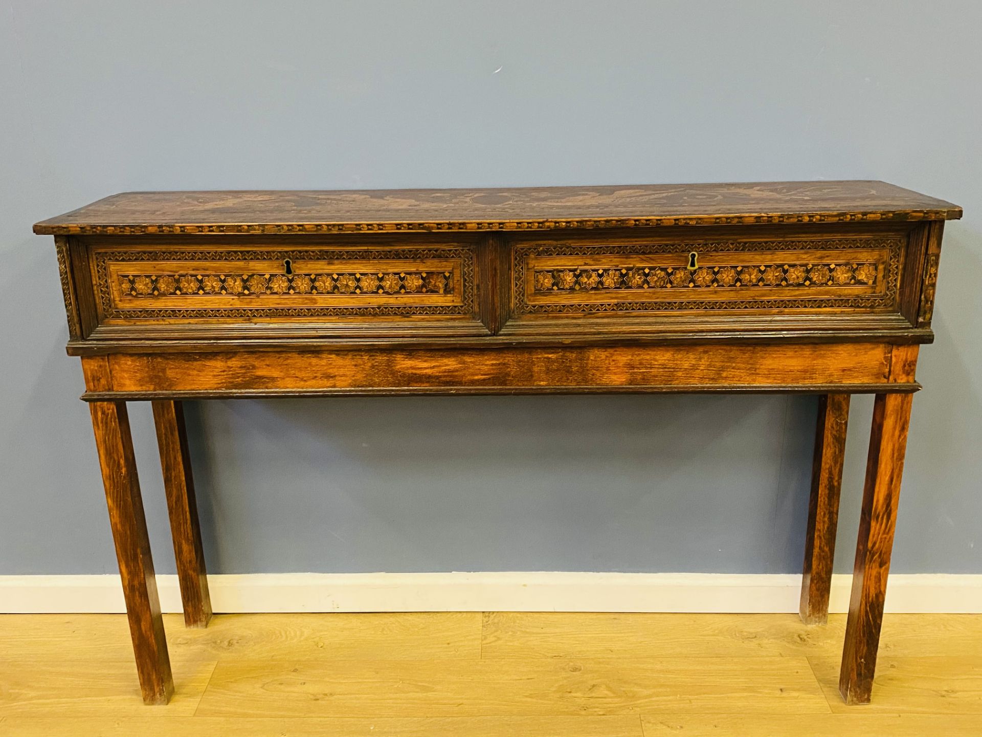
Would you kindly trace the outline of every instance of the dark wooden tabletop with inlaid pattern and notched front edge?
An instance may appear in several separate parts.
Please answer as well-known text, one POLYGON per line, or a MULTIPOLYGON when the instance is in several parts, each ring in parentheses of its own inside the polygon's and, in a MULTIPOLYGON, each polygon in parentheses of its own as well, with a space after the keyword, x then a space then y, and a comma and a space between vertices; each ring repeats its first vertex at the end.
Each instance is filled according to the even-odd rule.
POLYGON ((886 182, 463 190, 127 192, 34 225, 41 235, 539 230, 942 220, 961 208, 886 182))

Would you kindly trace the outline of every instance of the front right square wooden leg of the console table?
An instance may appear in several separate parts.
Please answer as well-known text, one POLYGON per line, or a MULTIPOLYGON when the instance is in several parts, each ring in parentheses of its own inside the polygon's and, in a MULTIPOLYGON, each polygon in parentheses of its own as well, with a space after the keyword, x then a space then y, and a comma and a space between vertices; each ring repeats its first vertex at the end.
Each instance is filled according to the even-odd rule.
POLYGON ((912 399, 912 394, 877 394, 873 406, 846 647, 839 677, 839 691, 846 704, 868 704, 873 688, 912 399))

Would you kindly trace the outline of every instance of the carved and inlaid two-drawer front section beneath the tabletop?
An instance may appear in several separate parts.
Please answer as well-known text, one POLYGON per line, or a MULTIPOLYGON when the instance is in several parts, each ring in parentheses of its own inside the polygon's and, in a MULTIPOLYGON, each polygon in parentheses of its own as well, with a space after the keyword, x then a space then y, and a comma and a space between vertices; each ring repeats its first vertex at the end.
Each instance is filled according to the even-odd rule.
POLYGON ((937 223, 60 238, 80 355, 503 345, 496 335, 925 342, 921 263, 937 223))

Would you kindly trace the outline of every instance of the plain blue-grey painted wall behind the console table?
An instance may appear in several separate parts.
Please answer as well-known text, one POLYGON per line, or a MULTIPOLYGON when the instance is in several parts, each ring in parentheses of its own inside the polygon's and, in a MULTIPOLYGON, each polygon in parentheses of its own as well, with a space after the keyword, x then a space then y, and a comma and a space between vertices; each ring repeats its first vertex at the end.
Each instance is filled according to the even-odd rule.
MULTIPOLYGON (((0 2, 0 574, 116 566, 35 220, 123 190, 823 178, 965 208, 894 570, 982 573, 980 24, 975 0, 0 2)), ((191 405, 210 570, 797 572, 814 402, 191 405)), ((871 406, 853 402, 842 571, 871 406)), ((171 572, 148 408, 132 418, 171 572)))

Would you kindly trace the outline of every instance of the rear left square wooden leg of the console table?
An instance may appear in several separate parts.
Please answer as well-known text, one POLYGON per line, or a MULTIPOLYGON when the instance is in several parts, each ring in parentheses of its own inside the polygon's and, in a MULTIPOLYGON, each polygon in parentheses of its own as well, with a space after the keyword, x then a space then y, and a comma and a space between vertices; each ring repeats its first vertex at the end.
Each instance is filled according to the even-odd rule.
POLYGON ((184 406, 181 402, 170 400, 153 402, 153 422, 157 426, 160 466, 164 471, 185 626, 206 627, 211 619, 211 597, 208 595, 204 550, 197 521, 184 406))

